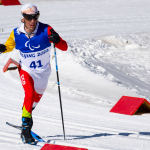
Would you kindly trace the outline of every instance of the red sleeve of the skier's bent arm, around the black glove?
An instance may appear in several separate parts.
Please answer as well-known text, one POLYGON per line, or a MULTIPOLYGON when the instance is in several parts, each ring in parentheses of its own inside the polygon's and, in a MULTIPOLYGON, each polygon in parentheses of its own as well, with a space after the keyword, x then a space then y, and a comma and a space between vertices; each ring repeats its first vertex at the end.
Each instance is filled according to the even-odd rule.
MULTIPOLYGON (((51 35, 51 29, 52 29, 52 27, 49 26, 48 27, 48 36, 51 35)), ((50 42, 52 42, 52 41, 50 41, 50 42)), ((55 43, 55 47, 59 48, 62 51, 66 51, 68 49, 67 42, 65 40, 63 40, 60 36, 59 36, 59 42, 55 43)))

